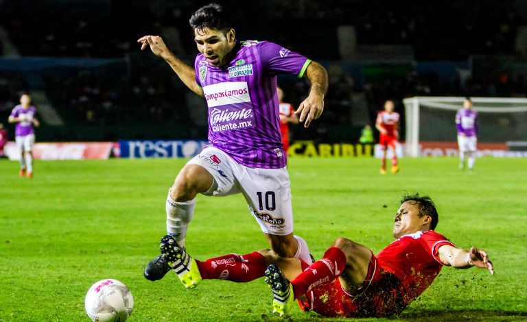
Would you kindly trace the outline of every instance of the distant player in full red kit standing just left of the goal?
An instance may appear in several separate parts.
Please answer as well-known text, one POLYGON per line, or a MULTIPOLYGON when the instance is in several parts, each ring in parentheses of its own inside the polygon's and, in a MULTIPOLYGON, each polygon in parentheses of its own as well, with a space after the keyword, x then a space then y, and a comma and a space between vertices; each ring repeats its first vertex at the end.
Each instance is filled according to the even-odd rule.
POLYGON ((397 153, 395 153, 395 144, 399 140, 399 113, 394 112, 395 103, 388 99, 384 103, 384 111, 377 114, 377 121, 375 128, 381 132, 379 136, 379 145, 383 149, 381 174, 386 175, 386 151, 388 147, 392 148, 392 173, 399 171, 399 164, 397 164, 397 153))

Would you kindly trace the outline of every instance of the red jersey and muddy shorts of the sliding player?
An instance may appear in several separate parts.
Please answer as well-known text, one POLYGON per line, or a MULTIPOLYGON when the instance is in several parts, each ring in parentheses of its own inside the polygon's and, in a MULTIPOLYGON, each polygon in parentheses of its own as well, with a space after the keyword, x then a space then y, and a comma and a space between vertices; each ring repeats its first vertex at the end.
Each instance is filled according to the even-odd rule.
MULTIPOLYGON (((371 257, 362 293, 350 295, 337 279, 306 293, 303 310, 325 317, 386 317, 398 314, 432 284, 443 263, 438 249, 452 245, 429 230, 395 240, 371 257)), ((455 246, 454 246, 455 247, 455 246)))

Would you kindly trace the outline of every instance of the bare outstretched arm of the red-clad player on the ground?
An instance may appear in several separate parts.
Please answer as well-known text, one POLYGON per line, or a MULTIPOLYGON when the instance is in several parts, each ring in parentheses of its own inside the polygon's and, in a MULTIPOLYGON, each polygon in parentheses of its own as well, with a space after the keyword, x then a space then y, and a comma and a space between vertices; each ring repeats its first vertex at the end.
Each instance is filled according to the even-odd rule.
POLYGON ((494 275, 494 267, 489 260, 487 251, 471 247, 469 251, 451 245, 443 245, 438 249, 439 258, 445 264, 456 269, 469 269, 473 266, 479 269, 488 269, 494 275))

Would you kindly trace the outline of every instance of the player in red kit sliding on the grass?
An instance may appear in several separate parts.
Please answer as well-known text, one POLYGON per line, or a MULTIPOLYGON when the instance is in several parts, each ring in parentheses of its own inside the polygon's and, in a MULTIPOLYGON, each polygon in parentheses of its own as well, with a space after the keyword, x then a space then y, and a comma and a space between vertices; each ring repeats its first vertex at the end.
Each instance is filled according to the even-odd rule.
MULTIPOLYGON (((196 262, 204 280, 249 282, 265 275, 274 294, 274 313, 288 314, 298 299, 302 310, 326 317, 398 314, 434 282, 443 266, 475 266, 494 273, 486 251, 460 249, 434 231, 438 213, 430 197, 404 196, 394 221, 397 239, 377 256, 364 245, 337 238, 323 258, 310 265, 268 249, 196 262)), ((191 259, 185 249, 161 251, 174 260, 191 259)))

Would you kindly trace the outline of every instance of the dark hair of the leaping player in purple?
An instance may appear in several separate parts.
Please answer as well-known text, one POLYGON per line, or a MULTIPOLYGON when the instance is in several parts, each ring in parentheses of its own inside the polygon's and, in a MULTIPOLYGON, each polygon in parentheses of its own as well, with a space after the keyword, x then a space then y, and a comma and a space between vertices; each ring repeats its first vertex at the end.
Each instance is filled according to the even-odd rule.
POLYGON ((217 29, 222 32, 232 28, 228 14, 218 3, 209 3, 196 10, 190 17, 189 23, 192 29, 197 29, 199 32, 205 28, 217 29))

